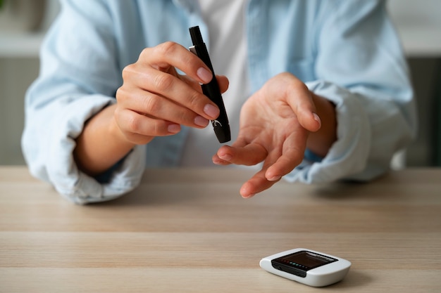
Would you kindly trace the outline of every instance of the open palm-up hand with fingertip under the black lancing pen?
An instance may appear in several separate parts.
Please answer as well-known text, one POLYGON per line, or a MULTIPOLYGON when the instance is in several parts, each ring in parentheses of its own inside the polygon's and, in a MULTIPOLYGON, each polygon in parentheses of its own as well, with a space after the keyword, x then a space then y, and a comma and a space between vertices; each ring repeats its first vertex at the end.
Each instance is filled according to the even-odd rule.
MULTIPOLYGON (((327 121, 335 121, 335 110, 328 100, 311 93, 294 75, 282 73, 268 80, 244 103, 237 141, 222 146, 213 156, 213 162, 221 165, 263 162, 261 171, 242 185, 242 197, 270 188, 302 162, 310 132, 319 134, 321 129, 314 102, 318 102, 327 121)), ((336 124, 327 126, 330 133, 319 134, 321 138, 313 141, 330 148, 336 139, 335 127, 336 124)))

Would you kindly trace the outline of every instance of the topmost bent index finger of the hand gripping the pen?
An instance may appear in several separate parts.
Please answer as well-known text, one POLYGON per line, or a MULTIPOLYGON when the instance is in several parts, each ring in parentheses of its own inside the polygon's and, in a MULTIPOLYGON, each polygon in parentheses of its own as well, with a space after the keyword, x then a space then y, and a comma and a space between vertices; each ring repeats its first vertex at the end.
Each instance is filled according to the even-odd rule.
POLYGON ((203 84, 208 84, 213 78, 211 70, 199 57, 173 41, 145 48, 139 60, 165 72, 168 72, 170 67, 176 67, 203 84))

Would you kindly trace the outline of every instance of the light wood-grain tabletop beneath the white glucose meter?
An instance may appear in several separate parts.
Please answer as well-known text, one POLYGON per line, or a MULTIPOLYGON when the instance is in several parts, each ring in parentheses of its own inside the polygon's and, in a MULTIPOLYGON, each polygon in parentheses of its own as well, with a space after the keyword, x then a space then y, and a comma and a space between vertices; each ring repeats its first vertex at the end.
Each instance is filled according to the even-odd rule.
POLYGON ((0 167, 0 292, 440 292, 441 169, 281 181, 244 200, 250 175, 147 170, 134 192, 78 206, 25 167, 0 167), (352 268, 320 289, 259 267, 296 247, 352 268))

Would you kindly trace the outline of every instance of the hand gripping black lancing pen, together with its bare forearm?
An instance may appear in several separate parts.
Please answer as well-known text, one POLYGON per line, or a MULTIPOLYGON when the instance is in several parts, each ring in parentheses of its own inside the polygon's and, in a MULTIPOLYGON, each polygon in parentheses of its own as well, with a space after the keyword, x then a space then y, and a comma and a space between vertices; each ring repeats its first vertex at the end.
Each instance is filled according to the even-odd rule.
MULTIPOLYGON (((94 176, 155 136, 176 134, 181 125, 204 128, 219 115, 199 85, 212 77, 202 60, 179 44, 167 42, 144 49, 137 62, 123 70, 118 103, 89 119, 76 139, 77 166, 94 176), (175 68, 187 75, 178 74, 175 68)), ((226 91, 228 79, 219 76, 217 81, 221 91, 226 91)))

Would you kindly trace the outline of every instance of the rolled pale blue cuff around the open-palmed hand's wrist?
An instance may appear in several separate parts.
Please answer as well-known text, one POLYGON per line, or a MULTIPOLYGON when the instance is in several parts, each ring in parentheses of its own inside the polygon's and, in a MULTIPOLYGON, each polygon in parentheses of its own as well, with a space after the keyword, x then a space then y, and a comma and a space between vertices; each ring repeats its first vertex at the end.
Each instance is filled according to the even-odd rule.
POLYGON ((371 145, 371 126, 364 105, 357 98, 358 94, 324 81, 309 82, 306 86, 316 95, 335 104, 337 141, 323 159, 311 160, 305 157, 302 164, 287 174, 285 179, 321 183, 352 176, 356 178, 356 174, 361 174, 359 178, 362 180, 378 176, 381 170, 366 169, 371 145))

